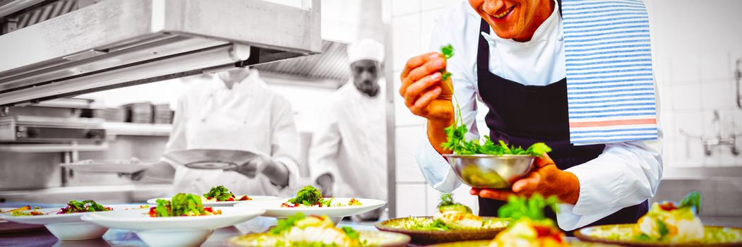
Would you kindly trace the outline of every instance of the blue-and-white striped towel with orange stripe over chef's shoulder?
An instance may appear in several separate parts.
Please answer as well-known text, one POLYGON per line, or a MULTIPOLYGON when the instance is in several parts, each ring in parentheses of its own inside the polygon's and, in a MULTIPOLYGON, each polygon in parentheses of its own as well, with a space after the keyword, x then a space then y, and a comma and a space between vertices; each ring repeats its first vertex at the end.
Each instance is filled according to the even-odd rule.
POLYGON ((649 16, 641 0, 562 0, 574 145, 657 139, 649 16))

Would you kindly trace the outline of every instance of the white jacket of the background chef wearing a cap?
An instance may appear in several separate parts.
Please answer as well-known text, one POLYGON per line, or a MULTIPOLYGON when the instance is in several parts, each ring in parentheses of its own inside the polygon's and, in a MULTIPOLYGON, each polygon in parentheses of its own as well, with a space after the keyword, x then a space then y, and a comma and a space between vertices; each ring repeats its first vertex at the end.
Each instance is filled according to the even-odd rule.
POLYGON ((335 197, 387 200, 387 122, 384 80, 376 96, 347 82, 326 102, 309 149, 312 181, 335 180, 335 197))

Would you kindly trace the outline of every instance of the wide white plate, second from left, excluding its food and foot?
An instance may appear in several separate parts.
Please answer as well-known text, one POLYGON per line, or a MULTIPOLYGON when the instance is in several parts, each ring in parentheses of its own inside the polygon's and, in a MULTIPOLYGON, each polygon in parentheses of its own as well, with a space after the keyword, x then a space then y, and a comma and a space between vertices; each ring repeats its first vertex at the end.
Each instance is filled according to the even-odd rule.
POLYGON ((124 230, 216 229, 236 225, 260 216, 260 208, 214 207, 222 214, 192 217, 149 217, 149 209, 112 211, 109 214, 89 214, 82 220, 108 228, 124 230))

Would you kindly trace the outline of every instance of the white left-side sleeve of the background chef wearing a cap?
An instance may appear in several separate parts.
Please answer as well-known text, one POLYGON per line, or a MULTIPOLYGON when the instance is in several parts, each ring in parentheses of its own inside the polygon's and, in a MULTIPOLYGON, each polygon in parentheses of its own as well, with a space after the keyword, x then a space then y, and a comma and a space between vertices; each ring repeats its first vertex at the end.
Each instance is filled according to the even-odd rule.
POLYGON ((309 173, 312 182, 316 182, 324 174, 335 178, 338 172, 338 163, 335 159, 338 157, 341 143, 338 111, 332 104, 326 105, 324 109, 326 111, 318 118, 312 134, 312 148, 309 148, 309 173))

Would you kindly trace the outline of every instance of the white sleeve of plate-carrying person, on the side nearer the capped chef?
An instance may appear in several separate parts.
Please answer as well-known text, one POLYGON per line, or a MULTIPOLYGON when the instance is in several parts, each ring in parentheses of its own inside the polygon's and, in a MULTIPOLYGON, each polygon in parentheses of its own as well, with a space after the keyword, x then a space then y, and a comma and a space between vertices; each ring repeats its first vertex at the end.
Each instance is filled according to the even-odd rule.
POLYGON ((273 101, 271 158, 286 165, 289 185, 284 188, 292 188, 299 179, 299 134, 289 100, 276 94, 273 101))

